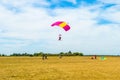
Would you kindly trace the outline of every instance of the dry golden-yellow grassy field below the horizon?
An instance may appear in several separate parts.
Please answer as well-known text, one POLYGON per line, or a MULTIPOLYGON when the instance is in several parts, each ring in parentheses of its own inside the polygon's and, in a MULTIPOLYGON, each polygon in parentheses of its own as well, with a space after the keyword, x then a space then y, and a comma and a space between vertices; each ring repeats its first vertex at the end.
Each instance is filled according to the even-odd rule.
POLYGON ((120 57, 0 57, 0 80, 120 80, 120 57))

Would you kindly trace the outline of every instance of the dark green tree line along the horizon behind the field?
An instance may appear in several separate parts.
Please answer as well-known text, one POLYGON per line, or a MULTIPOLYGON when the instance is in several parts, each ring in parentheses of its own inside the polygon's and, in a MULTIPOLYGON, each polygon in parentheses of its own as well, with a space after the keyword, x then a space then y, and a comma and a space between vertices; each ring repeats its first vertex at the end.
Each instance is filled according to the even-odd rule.
POLYGON ((71 52, 71 51, 54 53, 54 54, 53 53, 43 53, 43 52, 38 52, 38 53, 34 53, 34 54, 13 53, 13 54, 10 54, 10 55, 0 54, 0 56, 30 56, 30 57, 33 57, 33 56, 42 56, 43 54, 46 54, 47 56, 59 56, 59 55, 62 55, 62 56, 83 56, 83 53, 71 52))

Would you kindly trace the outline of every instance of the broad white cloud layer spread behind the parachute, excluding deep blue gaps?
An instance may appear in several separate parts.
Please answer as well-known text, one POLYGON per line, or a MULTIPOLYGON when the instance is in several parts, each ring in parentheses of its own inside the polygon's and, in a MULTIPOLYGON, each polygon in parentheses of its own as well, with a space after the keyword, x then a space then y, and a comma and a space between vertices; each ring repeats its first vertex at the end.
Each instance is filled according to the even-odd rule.
MULTIPOLYGON (((8 2, 6 1, 4 4, 8 4, 8 2)), ((32 1, 25 0, 17 2, 11 2, 11 4, 21 6, 32 3, 32 1)), ((43 3, 47 4, 44 1, 41 4, 43 3)), ((32 47, 34 51, 40 49, 45 52, 72 50, 87 54, 115 53, 112 50, 120 45, 118 43, 120 28, 117 24, 120 21, 119 8, 116 7, 101 12, 101 4, 76 9, 54 10, 26 6, 21 7, 22 12, 15 14, 5 6, 0 6, 0 41, 3 43, 0 48, 4 48, 3 51, 8 52, 14 52, 16 49, 25 51, 32 47), (54 16, 51 16, 51 13, 54 16), (110 20, 113 23, 98 24, 99 18, 110 20), (65 32, 62 28, 51 27, 50 25, 57 20, 66 21, 71 26, 71 30, 65 32), (62 34, 61 42, 57 41, 59 33, 62 34)))

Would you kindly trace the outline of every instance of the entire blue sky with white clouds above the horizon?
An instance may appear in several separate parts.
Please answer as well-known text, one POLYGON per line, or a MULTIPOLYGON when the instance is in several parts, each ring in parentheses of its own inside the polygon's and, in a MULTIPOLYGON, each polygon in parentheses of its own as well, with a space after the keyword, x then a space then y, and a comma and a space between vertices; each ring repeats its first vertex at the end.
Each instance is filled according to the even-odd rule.
POLYGON ((119 41, 120 0, 0 0, 1 54, 119 55, 119 41), (56 21, 71 29, 51 27, 56 21))

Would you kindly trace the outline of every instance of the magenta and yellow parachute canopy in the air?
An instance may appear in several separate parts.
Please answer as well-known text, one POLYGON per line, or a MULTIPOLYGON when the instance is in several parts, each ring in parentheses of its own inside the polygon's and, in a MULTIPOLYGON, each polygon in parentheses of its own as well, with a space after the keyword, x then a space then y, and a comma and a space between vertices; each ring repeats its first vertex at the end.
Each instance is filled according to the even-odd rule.
POLYGON ((70 30, 70 26, 64 21, 54 22, 51 26, 59 26, 59 27, 63 28, 65 31, 70 30))

